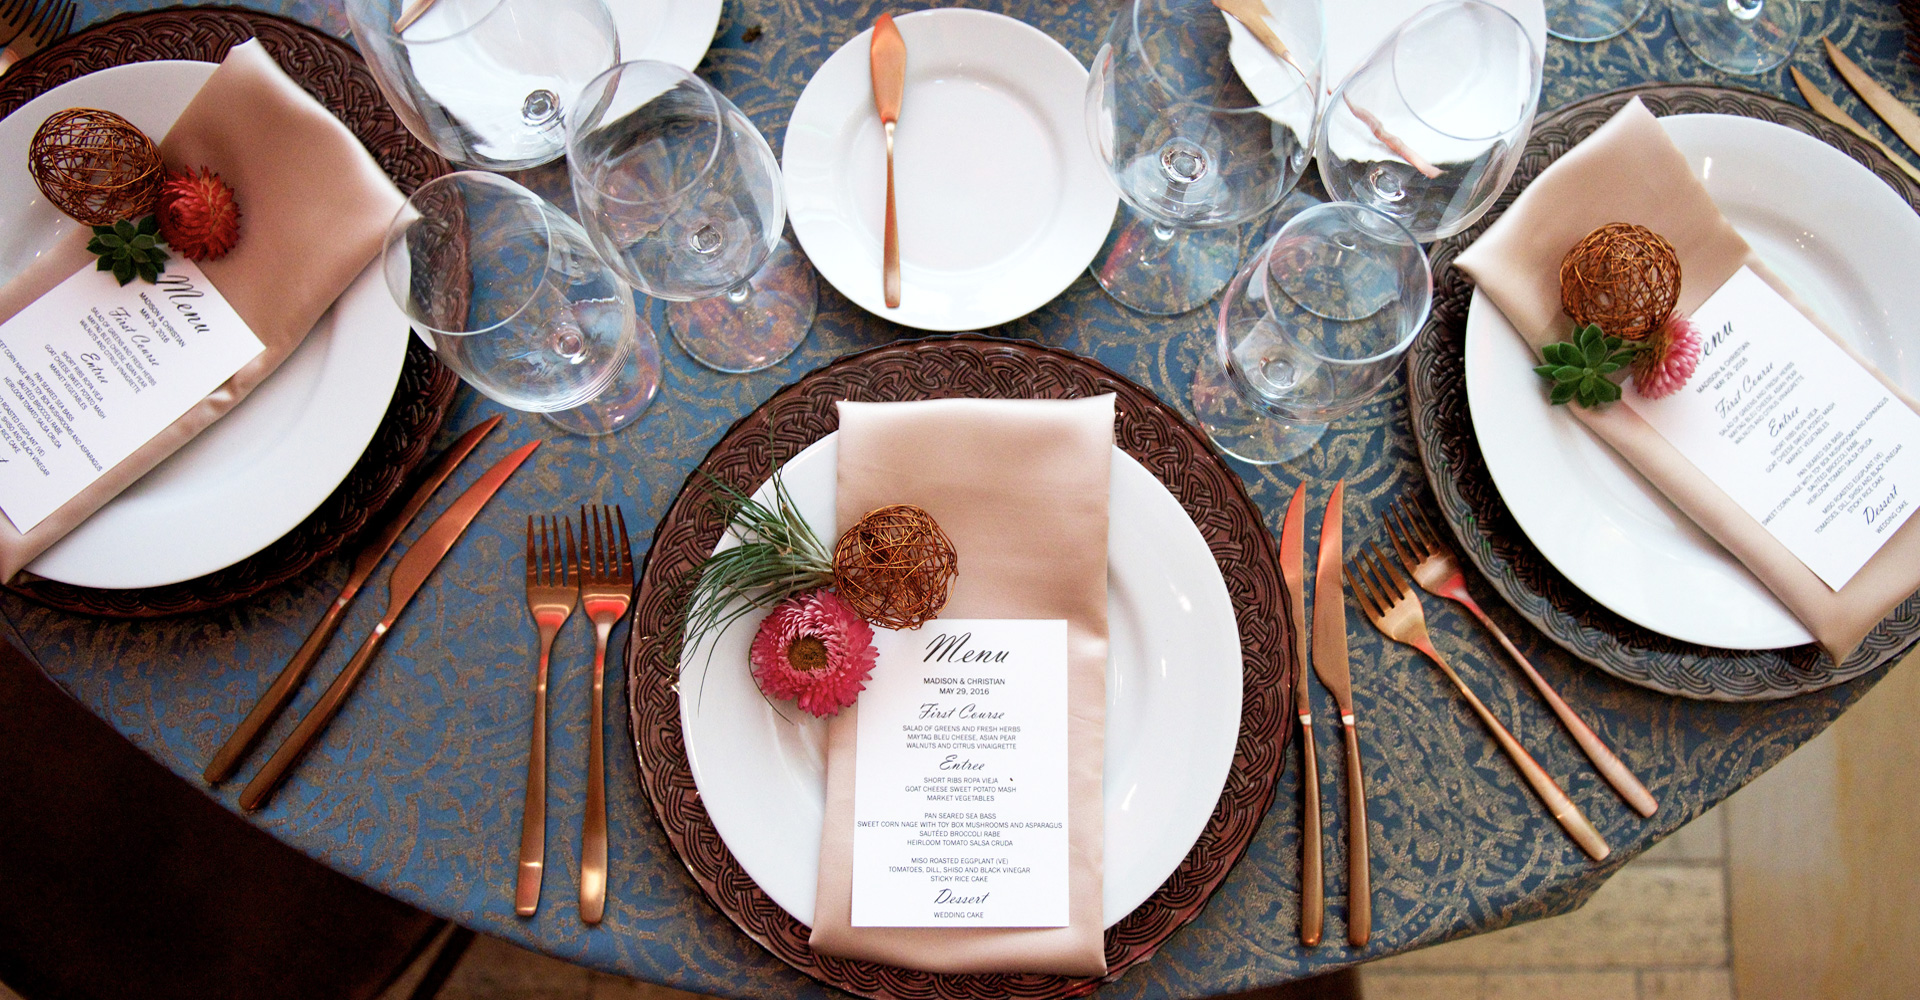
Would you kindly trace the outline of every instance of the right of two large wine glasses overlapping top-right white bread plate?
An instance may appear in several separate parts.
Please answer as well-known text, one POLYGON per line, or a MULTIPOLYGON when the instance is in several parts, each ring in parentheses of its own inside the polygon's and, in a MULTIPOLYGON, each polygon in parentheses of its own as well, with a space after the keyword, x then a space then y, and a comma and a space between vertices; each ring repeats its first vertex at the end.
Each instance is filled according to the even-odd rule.
POLYGON ((1321 182, 1423 244, 1471 226, 1513 179, 1540 102, 1540 52, 1511 13, 1448 0, 1409 17, 1321 113, 1321 182))

